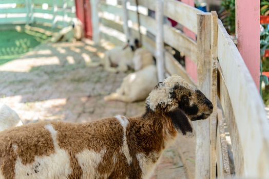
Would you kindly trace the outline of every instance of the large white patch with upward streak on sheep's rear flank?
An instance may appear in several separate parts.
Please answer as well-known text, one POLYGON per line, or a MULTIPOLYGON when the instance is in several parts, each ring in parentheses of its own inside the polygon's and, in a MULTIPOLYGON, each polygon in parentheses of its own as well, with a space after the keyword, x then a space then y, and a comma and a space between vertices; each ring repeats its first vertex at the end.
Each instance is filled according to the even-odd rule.
POLYGON ((67 178, 71 173, 69 155, 64 149, 60 149, 57 144, 57 131, 51 124, 47 124, 45 128, 51 133, 54 153, 48 156, 35 156, 34 162, 26 165, 18 157, 15 163, 15 179, 67 178))

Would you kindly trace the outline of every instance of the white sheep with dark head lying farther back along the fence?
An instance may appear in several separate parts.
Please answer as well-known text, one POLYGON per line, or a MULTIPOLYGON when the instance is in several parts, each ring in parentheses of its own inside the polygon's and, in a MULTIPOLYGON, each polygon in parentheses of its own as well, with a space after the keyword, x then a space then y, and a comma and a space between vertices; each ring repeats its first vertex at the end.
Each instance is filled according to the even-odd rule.
POLYGON ((103 65, 104 69, 108 72, 126 72, 128 68, 132 68, 132 58, 134 51, 139 48, 138 39, 134 39, 133 42, 128 40, 125 47, 116 47, 112 50, 105 52, 105 57, 100 62, 91 62, 88 64, 90 67, 96 67, 103 65))

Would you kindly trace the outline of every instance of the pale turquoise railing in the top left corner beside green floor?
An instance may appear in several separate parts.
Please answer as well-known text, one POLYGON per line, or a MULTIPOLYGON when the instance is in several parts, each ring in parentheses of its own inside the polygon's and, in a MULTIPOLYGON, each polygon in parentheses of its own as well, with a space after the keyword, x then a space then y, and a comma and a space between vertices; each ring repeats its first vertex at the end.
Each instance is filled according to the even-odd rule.
POLYGON ((65 27, 75 18, 74 0, 2 0, 0 24, 47 24, 65 27))

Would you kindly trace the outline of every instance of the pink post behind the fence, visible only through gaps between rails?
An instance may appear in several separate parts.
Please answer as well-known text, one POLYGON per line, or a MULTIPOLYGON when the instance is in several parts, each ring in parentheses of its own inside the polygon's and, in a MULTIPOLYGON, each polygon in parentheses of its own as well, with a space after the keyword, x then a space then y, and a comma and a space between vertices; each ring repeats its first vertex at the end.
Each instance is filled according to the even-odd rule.
MULTIPOLYGON (((185 3, 185 4, 189 5, 189 6, 193 6, 193 7, 195 5, 194 0, 181 0, 181 2, 185 3)), ((194 32, 190 31, 189 29, 187 29, 185 27, 183 28, 183 31, 188 37, 196 40, 196 35, 195 35, 194 32)), ((185 69, 186 69, 188 75, 195 82, 197 82, 197 65, 189 57, 185 57, 185 69)))

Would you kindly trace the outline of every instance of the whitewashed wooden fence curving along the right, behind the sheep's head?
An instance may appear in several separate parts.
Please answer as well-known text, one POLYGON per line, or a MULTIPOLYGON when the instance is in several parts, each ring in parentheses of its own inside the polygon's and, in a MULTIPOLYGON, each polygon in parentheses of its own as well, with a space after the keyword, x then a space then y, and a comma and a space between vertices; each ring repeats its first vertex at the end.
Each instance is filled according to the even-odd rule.
MULTIPOLYGON (((139 37, 136 6, 128 6, 136 5, 136 1, 127 1, 127 10, 120 4, 111 4, 112 1, 107 1, 110 4, 98 0, 90 2, 94 9, 95 42, 105 38, 121 45, 126 42, 128 28, 131 36, 139 37), (126 18, 123 18, 127 15, 131 22, 128 25, 126 18)), ((237 47, 218 20, 216 12, 205 13, 176 0, 160 2, 138 0, 143 46, 156 56, 156 38, 162 37, 166 44, 192 59, 198 67, 197 86, 214 104, 210 119, 199 121, 197 125, 195 177, 216 178, 216 166, 218 178, 230 176, 225 139, 227 131, 224 130, 226 122, 232 141, 236 176, 269 178, 269 125, 263 102, 237 47), (148 10, 156 11, 160 2, 163 2, 163 16, 193 31, 197 40, 168 24, 160 26, 160 21, 148 16, 148 10), (163 36, 159 36, 157 27, 163 28, 163 36)), ((194 84, 183 66, 172 55, 165 53, 165 73, 179 74, 194 84)), ((162 58, 156 57, 158 65, 162 58)))

